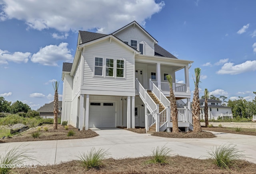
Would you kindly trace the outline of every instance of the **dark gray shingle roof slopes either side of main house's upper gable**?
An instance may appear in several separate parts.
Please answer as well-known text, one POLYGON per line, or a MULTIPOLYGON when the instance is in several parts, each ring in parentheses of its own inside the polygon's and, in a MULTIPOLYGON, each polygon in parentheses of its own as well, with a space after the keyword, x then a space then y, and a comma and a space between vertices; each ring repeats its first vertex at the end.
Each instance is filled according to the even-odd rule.
MULTIPOLYGON (((89 41, 93 41, 95 39, 99 39, 101 37, 106 36, 106 34, 100 34, 100 33, 92 33, 89 31, 79 31, 80 37, 82 40, 82 43, 86 43, 89 41)), ((160 47, 159 45, 155 45, 155 56, 160 56, 160 57, 168 57, 168 58, 173 58, 173 59, 178 59, 168 51, 166 51, 164 48, 160 47)))

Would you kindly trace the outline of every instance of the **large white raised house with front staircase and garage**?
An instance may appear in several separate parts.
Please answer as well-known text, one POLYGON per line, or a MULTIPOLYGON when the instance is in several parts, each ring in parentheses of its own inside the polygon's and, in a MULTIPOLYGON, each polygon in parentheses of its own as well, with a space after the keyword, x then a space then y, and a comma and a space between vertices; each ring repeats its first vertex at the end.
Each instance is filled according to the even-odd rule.
POLYGON ((178 109, 179 127, 193 129, 188 70, 193 61, 177 59, 158 45, 137 22, 109 35, 78 32, 73 63, 63 63, 62 121, 85 127, 146 127, 170 131, 169 83, 173 77, 176 100, 188 106, 178 109), (175 73, 184 84, 175 83, 175 73))

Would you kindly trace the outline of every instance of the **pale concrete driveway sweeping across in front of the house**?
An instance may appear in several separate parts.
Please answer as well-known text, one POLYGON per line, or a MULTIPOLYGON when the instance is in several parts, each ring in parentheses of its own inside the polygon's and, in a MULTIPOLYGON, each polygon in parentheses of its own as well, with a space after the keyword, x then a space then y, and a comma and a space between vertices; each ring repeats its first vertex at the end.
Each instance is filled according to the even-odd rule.
POLYGON ((172 149, 173 154, 204 159, 207 151, 213 147, 231 142, 244 151, 247 160, 256 163, 256 137, 251 135, 213 132, 216 138, 174 139, 137 134, 118 128, 94 129, 94 131, 99 136, 89 139, 0 143, 0 154, 3 154, 8 146, 10 149, 19 145, 27 145, 27 148, 34 151, 31 155, 38 161, 29 161, 27 164, 39 162, 57 164, 61 161, 78 159, 80 152, 87 152, 92 147, 108 150, 110 157, 123 158, 150 155, 152 149, 157 146, 166 146, 172 149))

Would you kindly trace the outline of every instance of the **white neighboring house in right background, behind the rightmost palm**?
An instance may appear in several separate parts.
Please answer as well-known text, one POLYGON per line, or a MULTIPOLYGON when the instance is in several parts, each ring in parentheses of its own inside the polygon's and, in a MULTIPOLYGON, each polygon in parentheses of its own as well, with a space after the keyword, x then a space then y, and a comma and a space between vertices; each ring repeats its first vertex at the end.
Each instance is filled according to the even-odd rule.
MULTIPOLYGON (((200 119, 204 119, 204 99, 200 101, 200 119)), ((208 120, 217 119, 221 117, 222 119, 233 118, 232 108, 227 106, 221 106, 221 102, 218 100, 208 99, 208 120)))

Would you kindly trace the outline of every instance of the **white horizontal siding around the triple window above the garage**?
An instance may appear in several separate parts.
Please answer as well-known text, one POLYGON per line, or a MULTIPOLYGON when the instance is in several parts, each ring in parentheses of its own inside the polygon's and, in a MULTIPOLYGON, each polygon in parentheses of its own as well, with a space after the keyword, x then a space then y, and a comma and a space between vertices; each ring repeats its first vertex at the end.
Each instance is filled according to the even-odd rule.
MULTIPOLYGON (((134 87, 134 53, 123 47, 112 39, 101 43, 85 47, 84 56, 84 79, 85 87, 100 87, 102 90, 109 88, 112 91, 120 89, 135 89, 134 87), (94 59, 95 57, 124 59, 125 60, 125 78, 94 76, 94 59)), ((104 73, 104 72, 103 72, 104 73)), ((135 90, 134 90, 135 92, 135 90)))

